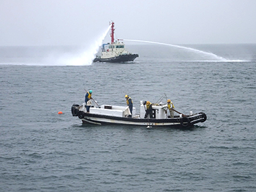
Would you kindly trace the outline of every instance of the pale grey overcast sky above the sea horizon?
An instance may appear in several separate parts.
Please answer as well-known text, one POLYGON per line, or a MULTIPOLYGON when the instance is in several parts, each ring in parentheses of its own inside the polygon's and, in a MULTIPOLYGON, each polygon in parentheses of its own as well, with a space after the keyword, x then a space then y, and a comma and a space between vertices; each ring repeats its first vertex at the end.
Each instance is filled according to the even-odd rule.
POLYGON ((117 38, 256 43, 256 0, 0 0, 0 46, 91 44, 111 20, 117 38))

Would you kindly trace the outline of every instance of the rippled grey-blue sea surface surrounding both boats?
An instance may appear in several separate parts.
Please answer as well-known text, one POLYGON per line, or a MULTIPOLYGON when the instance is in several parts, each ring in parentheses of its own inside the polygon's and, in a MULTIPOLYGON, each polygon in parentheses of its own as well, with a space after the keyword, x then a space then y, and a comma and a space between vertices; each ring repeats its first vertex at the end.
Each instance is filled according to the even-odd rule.
POLYGON ((91 65, 83 47, 0 47, 0 191, 256 191, 256 45, 127 49, 140 57, 91 65), (137 112, 165 93, 207 120, 83 125, 84 89, 137 112))

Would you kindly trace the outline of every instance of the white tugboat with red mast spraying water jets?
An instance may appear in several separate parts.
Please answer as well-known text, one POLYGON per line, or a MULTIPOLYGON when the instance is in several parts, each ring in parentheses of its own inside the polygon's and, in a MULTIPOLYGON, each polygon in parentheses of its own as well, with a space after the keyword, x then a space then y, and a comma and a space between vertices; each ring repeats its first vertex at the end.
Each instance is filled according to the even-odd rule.
POLYGON ((138 58, 138 54, 132 54, 131 52, 125 50, 124 42, 120 42, 119 39, 115 42, 114 24, 114 22, 111 23, 111 44, 103 44, 101 49, 101 56, 97 56, 93 62, 123 63, 134 61, 136 58, 138 58))

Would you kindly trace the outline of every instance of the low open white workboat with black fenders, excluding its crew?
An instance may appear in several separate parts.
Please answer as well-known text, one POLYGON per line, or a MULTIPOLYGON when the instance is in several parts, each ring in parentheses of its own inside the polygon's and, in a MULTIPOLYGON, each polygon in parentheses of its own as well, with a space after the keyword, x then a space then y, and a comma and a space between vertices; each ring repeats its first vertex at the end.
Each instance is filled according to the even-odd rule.
POLYGON ((73 116, 78 116, 84 124, 97 124, 97 125, 143 125, 147 127, 193 127, 193 125, 200 122, 205 122, 207 116, 205 113, 189 112, 189 115, 179 113, 175 109, 173 111, 179 115, 170 118, 168 115, 168 106, 162 102, 152 104, 153 115, 152 118, 145 117, 145 102, 140 101, 140 113, 136 113, 136 108, 132 109, 132 118, 129 106, 111 106, 103 104, 101 106, 90 108, 90 112, 86 112, 85 104, 73 104, 71 113, 73 116))

